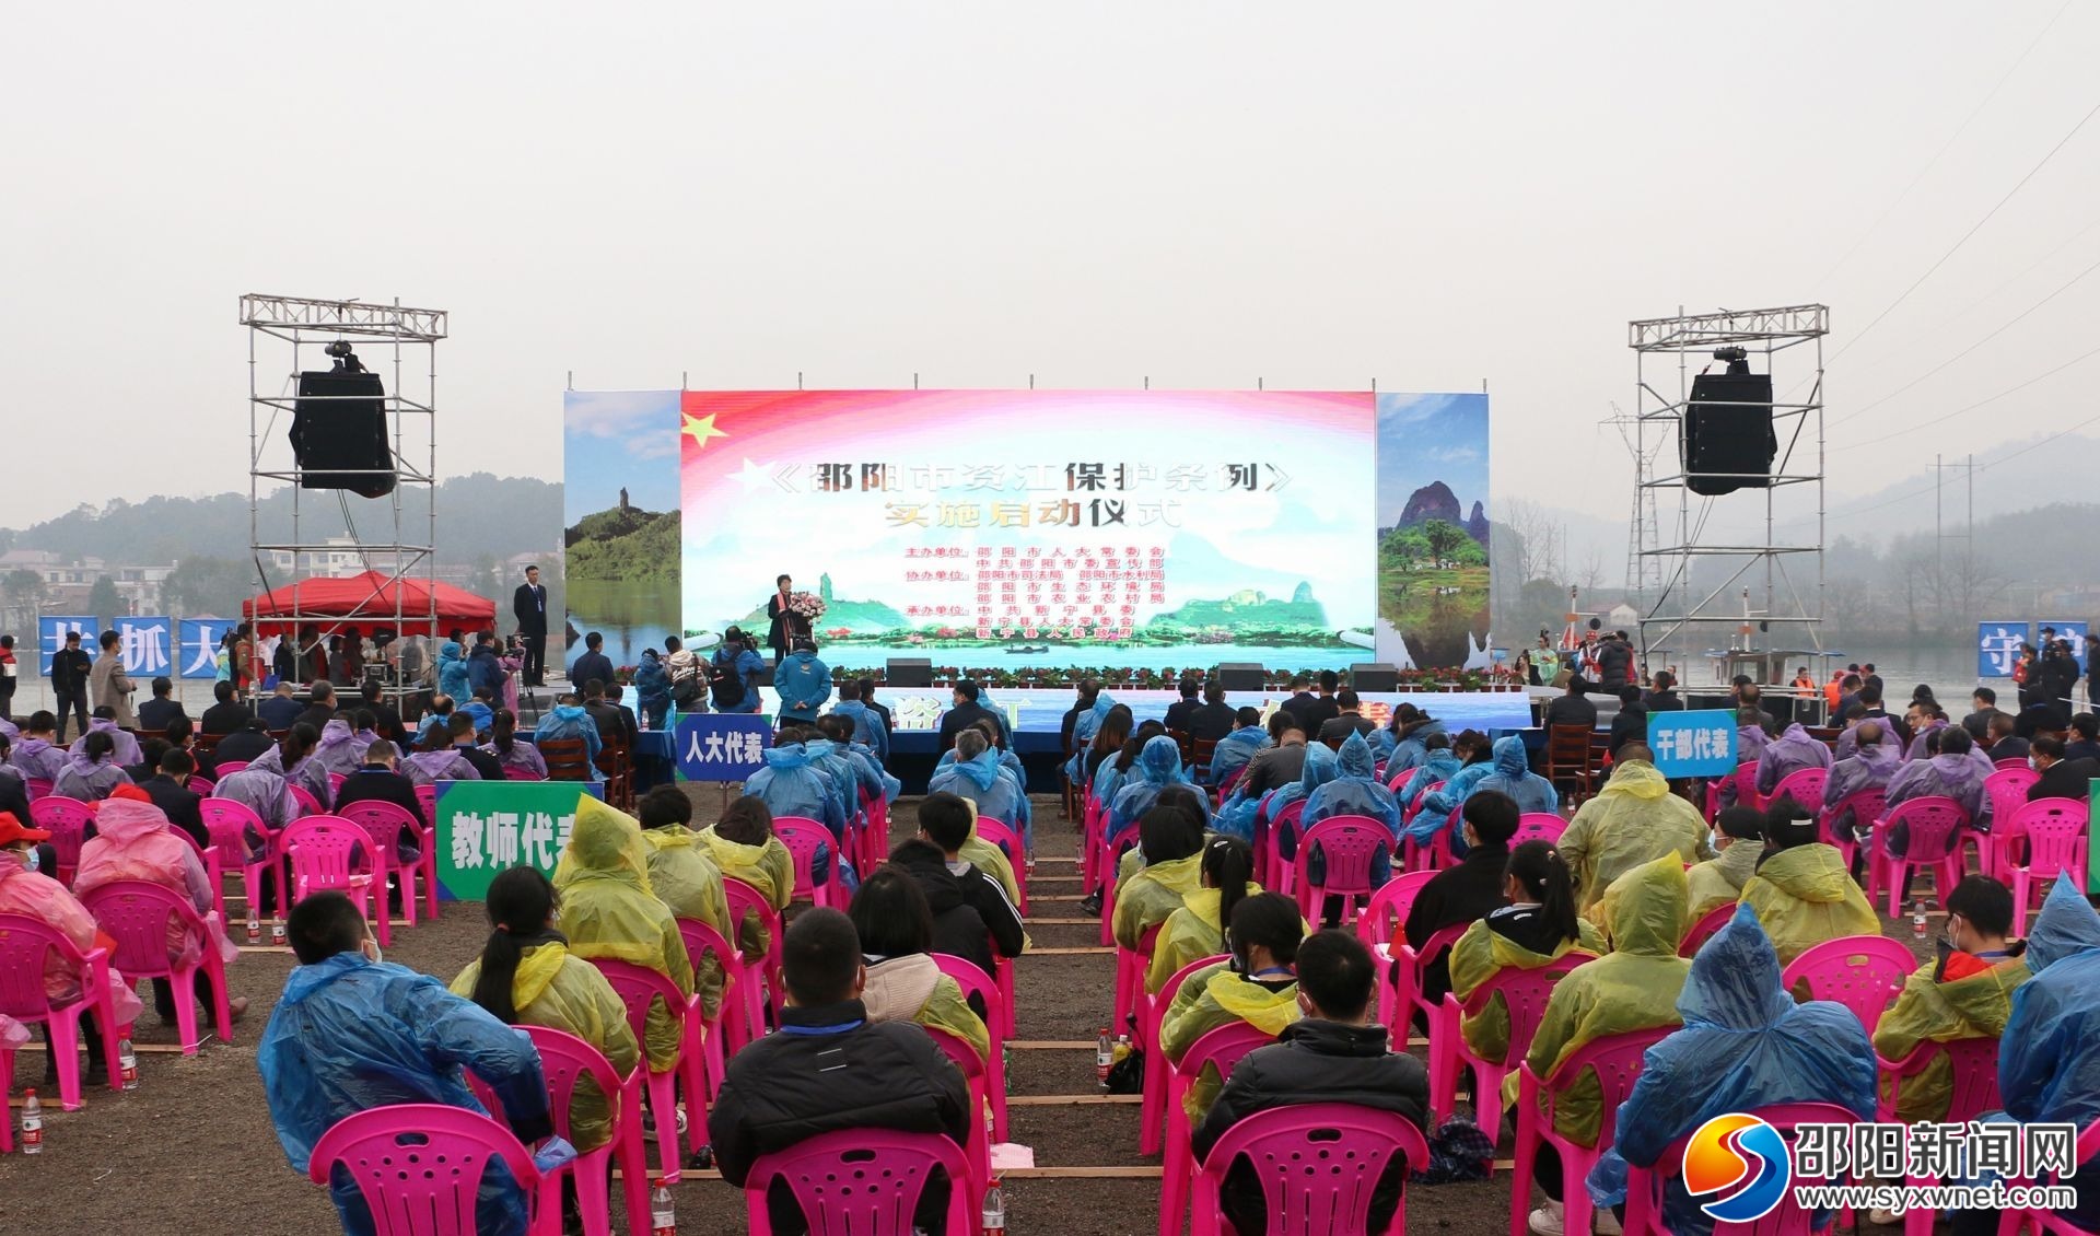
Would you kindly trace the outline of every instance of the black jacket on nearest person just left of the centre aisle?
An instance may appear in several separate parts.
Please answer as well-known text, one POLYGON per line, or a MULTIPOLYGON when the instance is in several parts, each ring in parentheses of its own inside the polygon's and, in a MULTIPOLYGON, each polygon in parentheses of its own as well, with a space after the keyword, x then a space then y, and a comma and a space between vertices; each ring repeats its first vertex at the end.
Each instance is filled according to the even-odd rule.
MULTIPOLYGON (((861 1001, 781 1009, 781 1028, 729 1062, 708 1112, 708 1137, 722 1179, 741 1188, 760 1154, 836 1129, 970 1135, 970 1087, 962 1070, 914 1022, 867 1022, 861 1001)), ((947 1207, 947 1190, 939 1205, 947 1207)), ((775 1230, 800 1230, 796 1209, 775 1190, 775 1230), (781 1213, 785 1205, 785 1215, 781 1213), (781 1223, 781 1219, 788 1223, 781 1223)), ((920 1198, 920 1215, 934 1198, 920 1198)), ((941 1215, 943 1211, 932 1211, 941 1215)), ((945 1230, 937 1217, 928 1230, 945 1230)))

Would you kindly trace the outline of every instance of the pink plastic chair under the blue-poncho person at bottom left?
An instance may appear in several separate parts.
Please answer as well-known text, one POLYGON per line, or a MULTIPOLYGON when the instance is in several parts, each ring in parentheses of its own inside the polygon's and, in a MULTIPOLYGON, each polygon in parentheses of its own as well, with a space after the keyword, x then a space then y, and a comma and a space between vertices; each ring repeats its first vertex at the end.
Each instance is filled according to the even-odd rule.
POLYGON ((527 1232, 559 1236, 561 1205, 542 1188, 531 1154, 510 1129, 466 1108, 397 1104, 344 1116, 313 1144, 307 1177, 326 1186, 340 1165, 372 1207, 378 1236, 472 1236, 481 1177, 494 1160, 525 1190, 527 1232), (445 1171, 435 1171, 439 1165, 445 1171))

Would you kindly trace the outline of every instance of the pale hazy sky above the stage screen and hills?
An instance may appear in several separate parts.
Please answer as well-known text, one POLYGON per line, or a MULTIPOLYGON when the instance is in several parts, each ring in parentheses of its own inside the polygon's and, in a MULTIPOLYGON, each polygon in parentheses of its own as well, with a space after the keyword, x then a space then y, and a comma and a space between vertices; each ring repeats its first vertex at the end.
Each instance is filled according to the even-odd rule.
MULTIPOLYGON (((569 371, 1487 380, 1495 495, 1621 516, 1625 321, 1827 300, 1848 346, 2100 103, 2096 40, 2058 0, 15 6, 0 523, 244 489, 242 292, 449 308, 441 472, 556 476, 569 371)), ((2100 120, 1829 365, 1831 418, 2092 269, 2096 222, 2100 120)), ((2096 311, 2100 277, 1831 445, 2071 361, 2096 311)), ((1833 489, 2096 382, 1835 451, 1833 489)))

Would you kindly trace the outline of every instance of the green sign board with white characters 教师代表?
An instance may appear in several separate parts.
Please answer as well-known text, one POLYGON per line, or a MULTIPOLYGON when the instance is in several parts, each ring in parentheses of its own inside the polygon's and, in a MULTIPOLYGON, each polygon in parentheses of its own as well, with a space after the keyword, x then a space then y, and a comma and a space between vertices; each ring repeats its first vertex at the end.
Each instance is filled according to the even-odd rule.
POLYGON ((437 883, 458 900, 485 900, 489 881, 521 862, 554 875, 586 793, 605 797, 605 785, 439 781, 437 883))

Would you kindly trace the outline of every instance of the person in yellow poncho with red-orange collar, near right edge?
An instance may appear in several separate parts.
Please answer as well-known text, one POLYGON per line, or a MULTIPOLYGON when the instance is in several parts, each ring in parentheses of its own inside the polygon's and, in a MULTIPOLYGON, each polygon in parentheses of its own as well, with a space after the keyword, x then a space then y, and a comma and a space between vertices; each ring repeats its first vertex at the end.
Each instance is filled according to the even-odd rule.
MULTIPOLYGON (((1873 1028, 1873 1051, 1903 1060, 1919 1043, 1997 1039, 2012 1016, 2012 993, 2031 978, 2012 932, 2012 890, 1989 875, 1970 875, 1947 894, 1947 949, 1936 965, 1913 969, 1903 993, 1873 1028)), ((1884 1098, 1888 1079, 1882 1081, 1884 1098)), ((1953 1070, 1945 1058, 1896 1081, 1896 1118, 1945 1121, 1953 1070)))

